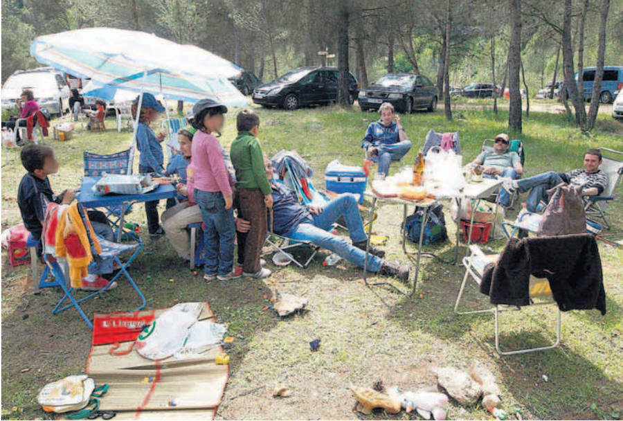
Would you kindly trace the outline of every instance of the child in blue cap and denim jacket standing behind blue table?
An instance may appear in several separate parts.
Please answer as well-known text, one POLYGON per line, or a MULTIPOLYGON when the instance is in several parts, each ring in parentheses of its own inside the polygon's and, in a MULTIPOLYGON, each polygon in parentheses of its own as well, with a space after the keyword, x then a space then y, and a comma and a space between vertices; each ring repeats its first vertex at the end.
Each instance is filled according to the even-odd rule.
MULTIPOLYGON (((132 118, 136 120, 136 111, 138 109, 138 100, 141 96, 137 96, 132 105, 132 118)), ((141 152, 138 161, 138 171, 141 174, 155 172, 158 175, 165 175, 164 154, 160 143, 165 138, 165 133, 161 132, 158 136, 150 127, 150 123, 156 121, 158 114, 164 111, 162 104, 156 100, 151 93, 143 93, 143 102, 141 102, 141 115, 138 117, 138 127, 136 128, 136 147, 141 152)), ((164 230, 160 226, 158 217, 158 201, 145 202, 145 214, 147 215, 147 227, 152 236, 164 235, 164 230)))

